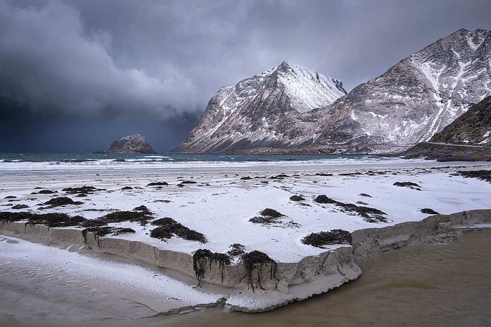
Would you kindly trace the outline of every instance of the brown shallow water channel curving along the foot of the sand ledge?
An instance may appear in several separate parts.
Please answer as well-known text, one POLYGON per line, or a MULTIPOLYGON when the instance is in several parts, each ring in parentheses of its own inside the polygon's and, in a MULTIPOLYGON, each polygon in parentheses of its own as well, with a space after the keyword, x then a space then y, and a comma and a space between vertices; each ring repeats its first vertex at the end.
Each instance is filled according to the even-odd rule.
MULTIPOLYGON (((8 286, 1 278, 0 294, 8 291, 15 297, 30 292, 22 294, 29 300, 25 308, 15 308, 19 312, 40 305, 48 312, 50 302, 61 302, 94 317, 71 326, 491 326, 491 230, 464 233, 451 244, 420 244, 386 252, 357 264, 363 274, 354 281, 306 301, 253 314, 226 313, 221 307, 183 315, 123 319, 124 311, 136 317, 145 314, 146 309, 124 299, 107 299, 115 301, 108 303, 95 290, 93 294, 83 290, 50 294, 48 290, 27 287, 16 290, 14 284, 8 286)), ((19 280, 19 285, 22 282, 19 280)), ((8 297, 0 296, 0 308, 8 306, 8 301, 8 297)), ((45 316, 50 315, 53 312, 45 316)), ((11 315, 0 318, 0 326, 58 323, 41 316, 38 321, 26 317, 24 322, 11 315)))

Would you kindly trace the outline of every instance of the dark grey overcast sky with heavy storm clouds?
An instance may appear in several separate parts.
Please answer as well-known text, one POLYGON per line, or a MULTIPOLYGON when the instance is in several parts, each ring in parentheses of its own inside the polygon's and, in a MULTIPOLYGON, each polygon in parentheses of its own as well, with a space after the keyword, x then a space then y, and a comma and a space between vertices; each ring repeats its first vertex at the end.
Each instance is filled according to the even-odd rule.
POLYGON ((490 0, 0 0, 0 152, 184 141, 221 86, 283 60, 349 92, 490 0))

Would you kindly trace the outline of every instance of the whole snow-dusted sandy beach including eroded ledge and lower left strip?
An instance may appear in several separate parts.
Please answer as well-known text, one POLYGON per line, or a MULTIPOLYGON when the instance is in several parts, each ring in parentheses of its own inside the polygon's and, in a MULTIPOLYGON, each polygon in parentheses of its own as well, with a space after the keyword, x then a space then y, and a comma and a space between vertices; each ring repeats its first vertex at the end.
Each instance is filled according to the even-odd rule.
MULTIPOLYGON (((294 300, 307 298, 354 279, 361 272, 355 264, 358 258, 351 261, 351 245, 334 244, 318 248, 303 244, 305 236, 334 229, 354 232, 419 222, 431 215, 421 212, 422 209, 431 209, 442 215, 490 209, 491 184, 477 178, 465 178, 458 173, 483 169, 489 170, 490 164, 400 160, 331 166, 293 162, 281 166, 253 163, 165 170, 72 170, 62 174, 44 171, 37 176, 22 176, 22 172, 5 174, 1 177, 0 189, 2 212, 56 212, 97 220, 112 212, 135 211, 135 208, 144 205, 151 219, 147 224, 136 221, 109 223, 109 227, 131 228, 135 232, 94 237, 99 249, 94 241, 87 243, 87 239, 85 242, 83 239, 72 242, 68 239, 50 239, 46 237, 48 234, 19 233, 4 224, 0 253, 5 262, 10 262, 11 266, 26 274, 47 274, 85 285, 91 290, 107 292, 110 296, 141 303, 142 309, 129 314, 131 317, 160 312, 183 313, 224 304, 225 308, 228 305, 231 309, 267 308, 273 302, 284 304, 278 300, 279 297, 294 300), (82 186, 91 186, 94 190, 82 193, 82 196, 80 192, 66 191, 67 188, 82 186), (47 194, 49 192, 41 190, 54 193, 47 194), (316 201, 321 195, 334 202, 316 201), (292 196, 303 200, 291 200, 292 196), (51 208, 42 204, 59 197, 82 203, 51 208), (12 208, 21 204, 27 207, 12 208), (350 207, 376 211, 363 213, 350 207), (267 208, 281 216, 271 222, 250 221, 255 217, 266 217, 261 213, 267 208), (176 234, 164 240, 150 237, 151 230, 156 228, 151 222, 164 217, 201 233, 206 243, 186 240, 176 234), (109 240, 130 242, 128 244, 136 242, 168 253, 184 253, 187 256, 175 257, 176 261, 182 261, 183 267, 189 266, 186 260, 198 249, 227 253, 231 245, 240 244, 243 253, 266 253, 278 263, 279 275, 290 269, 288 267, 299 269, 300 262, 305 267, 317 265, 305 263, 305 260, 311 262, 312 258, 318 259, 323 253, 330 252, 338 253, 337 270, 346 271, 336 271, 339 278, 335 280, 331 278, 333 273, 324 272, 325 276, 331 276, 329 284, 327 279, 322 279, 324 275, 317 272, 320 277, 307 276, 304 269, 301 277, 285 277, 282 282, 286 282, 286 290, 276 280, 273 286, 268 286, 267 282, 261 288, 255 285, 258 292, 251 292, 253 284, 248 284, 246 280, 240 283, 233 281, 232 273, 227 270, 225 282, 223 275, 221 277, 222 285, 218 277, 207 277, 205 273, 202 287, 193 287, 198 280, 192 269, 183 273, 177 266, 161 266, 156 261, 146 260, 148 256, 130 255, 122 248, 104 251, 109 249, 104 248, 109 240), (349 260, 343 257, 342 249, 349 249, 349 260), (343 260, 350 261, 350 265, 343 266, 340 263, 343 260), (325 290, 320 286, 323 283, 328 284, 325 290)), ((484 224, 481 227, 487 226, 484 224)), ((80 232, 84 228, 71 226, 55 229, 80 232)), ((46 230, 49 228, 46 227, 46 230)), ((408 240, 404 244, 397 242, 394 244, 408 244, 408 240)), ((325 254, 324 260, 327 256, 325 254)), ((231 257, 231 265, 240 266, 239 255, 231 257)), ((213 269, 219 271, 218 263, 213 269)), ((261 274, 269 275, 269 271, 266 273, 263 271, 261 274)), ((9 312, 2 314, 8 315, 9 312)))

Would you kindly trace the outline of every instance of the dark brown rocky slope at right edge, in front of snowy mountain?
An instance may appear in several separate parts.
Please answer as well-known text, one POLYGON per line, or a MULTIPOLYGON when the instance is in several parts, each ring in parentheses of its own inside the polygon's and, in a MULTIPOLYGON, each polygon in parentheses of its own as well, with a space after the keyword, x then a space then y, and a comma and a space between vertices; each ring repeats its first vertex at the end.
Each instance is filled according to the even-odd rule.
POLYGON ((490 134, 491 96, 473 105, 436 133, 430 142, 418 143, 401 155, 408 159, 425 157, 438 161, 490 161, 490 134))

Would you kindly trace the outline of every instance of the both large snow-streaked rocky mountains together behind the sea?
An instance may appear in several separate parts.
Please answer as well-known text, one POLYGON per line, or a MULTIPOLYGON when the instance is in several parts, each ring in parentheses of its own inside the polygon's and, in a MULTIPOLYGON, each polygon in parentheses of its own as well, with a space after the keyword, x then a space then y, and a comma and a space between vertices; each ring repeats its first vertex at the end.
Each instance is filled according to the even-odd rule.
POLYGON ((460 29, 327 105, 341 82, 284 62, 220 89, 173 151, 400 152, 491 94, 490 59, 491 31, 460 29))

